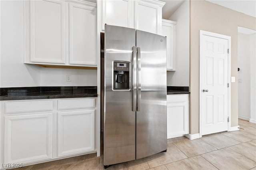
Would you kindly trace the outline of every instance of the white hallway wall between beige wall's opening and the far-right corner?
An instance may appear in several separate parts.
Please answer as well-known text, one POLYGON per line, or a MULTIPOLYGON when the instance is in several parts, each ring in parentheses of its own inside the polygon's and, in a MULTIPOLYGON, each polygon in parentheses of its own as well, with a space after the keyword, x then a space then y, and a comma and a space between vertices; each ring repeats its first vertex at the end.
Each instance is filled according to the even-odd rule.
POLYGON ((250 119, 250 36, 238 33, 238 118, 250 119), (241 81, 239 83, 239 80, 241 81))

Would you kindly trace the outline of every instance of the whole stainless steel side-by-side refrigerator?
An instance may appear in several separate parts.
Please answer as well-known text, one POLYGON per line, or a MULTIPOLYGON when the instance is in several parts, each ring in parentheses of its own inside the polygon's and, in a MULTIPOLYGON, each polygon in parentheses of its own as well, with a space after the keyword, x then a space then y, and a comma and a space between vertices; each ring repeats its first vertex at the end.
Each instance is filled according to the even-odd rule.
POLYGON ((167 149, 166 37, 105 25, 104 166, 167 149))

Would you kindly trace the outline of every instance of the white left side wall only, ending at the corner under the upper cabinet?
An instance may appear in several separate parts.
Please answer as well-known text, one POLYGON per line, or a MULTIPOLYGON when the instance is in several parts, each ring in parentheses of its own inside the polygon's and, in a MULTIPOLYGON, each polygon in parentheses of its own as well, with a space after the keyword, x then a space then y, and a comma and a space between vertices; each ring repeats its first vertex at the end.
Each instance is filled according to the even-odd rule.
POLYGON ((40 68, 23 64, 23 2, 1 3, 0 87, 40 85, 40 68))

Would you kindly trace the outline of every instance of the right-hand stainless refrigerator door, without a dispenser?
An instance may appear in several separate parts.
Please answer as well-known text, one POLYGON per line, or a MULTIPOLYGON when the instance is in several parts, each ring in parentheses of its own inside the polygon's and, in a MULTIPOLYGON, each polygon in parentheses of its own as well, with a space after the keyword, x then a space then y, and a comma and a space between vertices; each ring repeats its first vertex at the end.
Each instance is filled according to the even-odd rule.
POLYGON ((138 99, 136 159, 167 149, 166 37, 136 31, 138 99), (139 98, 139 95, 138 95, 139 98))

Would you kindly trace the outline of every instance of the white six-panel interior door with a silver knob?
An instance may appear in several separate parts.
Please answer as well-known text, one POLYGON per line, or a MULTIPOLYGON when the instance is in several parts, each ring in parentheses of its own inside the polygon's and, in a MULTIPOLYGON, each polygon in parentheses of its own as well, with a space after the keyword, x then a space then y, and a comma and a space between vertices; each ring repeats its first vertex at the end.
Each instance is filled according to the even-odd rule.
POLYGON ((205 135, 228 130, 229 40, 201 34, 200 41, 200 131, 205 135))

